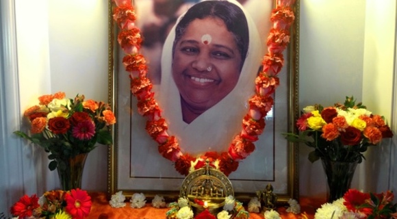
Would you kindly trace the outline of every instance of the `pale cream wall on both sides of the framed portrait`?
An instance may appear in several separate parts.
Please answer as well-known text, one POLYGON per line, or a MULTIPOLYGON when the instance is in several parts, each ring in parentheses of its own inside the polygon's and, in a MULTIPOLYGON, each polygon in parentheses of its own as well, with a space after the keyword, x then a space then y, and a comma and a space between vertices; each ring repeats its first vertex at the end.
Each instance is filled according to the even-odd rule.
MULTIPOLYGON (((391 41, 396 28, 382 21, 389 22, 394 17, 395 22, 394 0, 385 0, 383 5, 376 4, 376 0, 301 0, 300 8, 300 107, 313 103, 331 105, 354 95, 365 101, 370 110, 391 117, 390 75, 395 47, 395 41, 391 41), (374 81, 373 75, 382 77, 374 81)), ((2 30, 12 26, 12 21, 8 21, 13 18, 12 10, 12 2, 1 1, 2 30)), ((4 52, 13 51, 12 47, 2 47, 1 53, 4 68, 0 77, 0 170, 6 177, 0 177, 0 194, 7 198, 1 199, 0 212, 8 211, 22 194, 40 194, 57 186, 56 173, 47 168, 46 154, 12 135, 26 107, 38 96, 57 91, 107 101, 107 0, 15 0, 15 15, 18 60, 13 59, 12 52, 4 52), (13 70, 18 77, 8 74, 13 70)), ((12 45, 9 35, 2 36, 12 45)), ((2 46, 8 43, 3 39, 2 42, 2 46)), ((395 141, 396 138, 394 144, 395 141)), ((321 164, 310 164, 308 153, 305 146, 300 147, 300 195, 323 197, 326 182, 321 164)), ((382 177, 389 168, 372 169, 381 172, 372 178, 365 171, 366 166, 360 164, 353 187, 379 190, 388 186, 377 182, 384 181, 382 177)), ((395 171, 390 172, 394 182, 395 171)), ((106 181, 107 149, 100 146, 88 156, 82 187, 106 191, 106 181)))

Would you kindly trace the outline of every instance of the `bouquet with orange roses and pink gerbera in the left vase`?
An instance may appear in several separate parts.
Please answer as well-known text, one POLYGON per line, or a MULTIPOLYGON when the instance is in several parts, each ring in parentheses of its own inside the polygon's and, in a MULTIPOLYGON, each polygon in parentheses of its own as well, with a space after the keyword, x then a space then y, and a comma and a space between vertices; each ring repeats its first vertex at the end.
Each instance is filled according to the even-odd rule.
POLYGON ((14 133, 51 153, 50 170, 65 166, 63 159, 92 151, 97 143, 112 144, 109 127, 116 117, 108 104, 79 94, 68 99, 64 92, 40 96, 38 101, 23 114, 30 123, 29 135, 14 133))

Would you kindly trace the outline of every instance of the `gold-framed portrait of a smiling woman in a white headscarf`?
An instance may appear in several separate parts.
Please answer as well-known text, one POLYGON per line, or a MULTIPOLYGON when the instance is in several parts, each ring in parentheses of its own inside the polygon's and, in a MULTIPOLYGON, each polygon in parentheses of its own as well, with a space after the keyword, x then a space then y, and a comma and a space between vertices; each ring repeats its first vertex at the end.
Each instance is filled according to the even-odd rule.
MULTIPOLYGON (((270 14, 277 1, 233 2, 237 9, 228 10, 236 12, 217 11, 216 16, 195 19, 190 18, 194 12, 187 11, 209 11, 200 8, 207 4, 204 1, 133 0, 147 77, 168 133, 177 138, 183 153, 199 156, 227 151, 242 129, 248 99, 255 92, 255 77, 267 53, 270 14), (232 22, 231 27, 219 14, 242 17, 236 15, 239 22, 232 22)), ((109 98, 117 123, 109 151, 108 192, 177 198, 185 176, 159 153, 158 143, 146 132, 146 118, 138 113, 129 73, 122 63, 125 54, 117 42, 113 4, 109 2, 109 98)), ((296 1, 290 44, 283 52, 284 66, 278 75, 280 85, 272 96, 274 105, 265 117, 264 132, 255 142, 255 151, 228 176, 235 197, 242 201, 269 183, 279 201, 298 198, 298 148, 282 136, 295 130, 298 117, 298 8, 296 1)))

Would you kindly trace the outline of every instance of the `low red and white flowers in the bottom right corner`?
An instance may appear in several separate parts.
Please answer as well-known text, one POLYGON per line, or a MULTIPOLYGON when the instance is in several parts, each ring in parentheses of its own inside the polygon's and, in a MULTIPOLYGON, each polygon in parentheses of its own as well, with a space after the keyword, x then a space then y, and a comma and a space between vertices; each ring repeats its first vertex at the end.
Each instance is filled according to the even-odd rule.
POLYGON ((391 191, 372 194, 350 189, 343 198, 321 205, 314 218, 397 218, 393 199, 391 191))

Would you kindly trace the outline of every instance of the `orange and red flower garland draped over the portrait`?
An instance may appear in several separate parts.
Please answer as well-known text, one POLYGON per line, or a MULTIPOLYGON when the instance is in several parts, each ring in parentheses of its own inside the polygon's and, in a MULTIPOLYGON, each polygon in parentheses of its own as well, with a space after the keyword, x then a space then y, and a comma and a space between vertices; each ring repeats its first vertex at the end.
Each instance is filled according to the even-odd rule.
POLYGON ((274 100, 272 94, 279 86, 280 72, 284 64, 282 52, 290 42, 290 26, 294 21, 292 5, 295 0, 277 0, 277 8, 272 10, 270 21, 272 28, 267 39, 268 53, 261 62, 263 68, 255 79, 255 94, 248 100, 249 110, 242 120, 242 131, 232 140, 228 151, 220 155, 209 151, 205 155, 193 157, 188 153, 182 153, 181 147, 175 136, 167 133, 168 124, 162 118, 162 110, 154 98, 151 90, 153 84, 146 77, 148 68, 146 60, 139 53, 142 38, 140 29, 136 27, 136 13, 131 1, 113 0, 116 7, 113 10, 113 18, 120 28, 118 44, 126 53, 123 57, 125 70, 131 79, 131 93, 138 100, 138 113, 146 117, 146 131, 159 146, 159 153, 175 163, 175 169, 181 175, 188 175, 191 170, 205 166, 205 160, 209 159, 210 165, 222 171, 225 175, 237 170, 238 162, 245 159, 255 150, 253 144, 264 131, 264 117, 271 110, 274 100))

